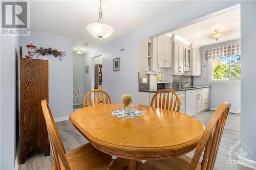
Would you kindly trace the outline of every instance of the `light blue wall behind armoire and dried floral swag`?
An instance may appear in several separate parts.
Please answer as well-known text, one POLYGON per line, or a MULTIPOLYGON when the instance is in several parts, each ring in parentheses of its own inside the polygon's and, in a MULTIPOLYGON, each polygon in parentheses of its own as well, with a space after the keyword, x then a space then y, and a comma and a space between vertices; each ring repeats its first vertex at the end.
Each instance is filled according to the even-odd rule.
MULTIPOLYGON (((47 27, 47 26, 46 26, 47 27)), ((52 56, 40 56, 49 61, 49 105, 54 118, 68 117, 73 110, 73 41, 66 37, 31 31, 30 36, 21 36, 24 55, 30 41, 37 47, 53 47, 66 52, 61 61, 52 56)))

